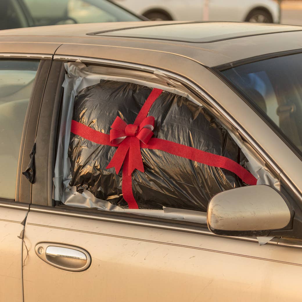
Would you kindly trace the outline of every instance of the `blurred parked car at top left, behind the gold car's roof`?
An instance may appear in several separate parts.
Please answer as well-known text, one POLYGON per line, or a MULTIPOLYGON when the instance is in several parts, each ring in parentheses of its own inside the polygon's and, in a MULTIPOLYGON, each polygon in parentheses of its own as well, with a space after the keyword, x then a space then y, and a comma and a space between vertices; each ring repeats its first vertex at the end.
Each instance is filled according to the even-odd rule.
POLYGON ((107 0, 1 0, 0 30, 55 24, 142 21, 107 0))

